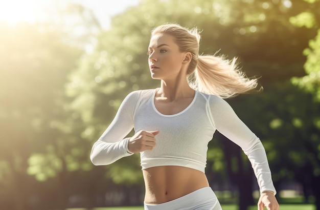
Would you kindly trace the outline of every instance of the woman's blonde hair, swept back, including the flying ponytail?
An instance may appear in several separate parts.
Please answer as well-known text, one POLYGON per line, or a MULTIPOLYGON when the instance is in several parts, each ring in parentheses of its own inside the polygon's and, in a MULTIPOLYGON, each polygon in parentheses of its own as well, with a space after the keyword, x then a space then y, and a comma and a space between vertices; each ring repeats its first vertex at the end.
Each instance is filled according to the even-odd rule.
POLYGON ((250 79, 236 65, 236 58, 200 55, 200 34, 197 28, 187 29, 178 24, 166 24, 154 28, 151 36, 166 33, 175 38, 180 52, 192 55, 187 75, 191 88, 221 98, 230 98, 257 87, 257 79, 250 79))

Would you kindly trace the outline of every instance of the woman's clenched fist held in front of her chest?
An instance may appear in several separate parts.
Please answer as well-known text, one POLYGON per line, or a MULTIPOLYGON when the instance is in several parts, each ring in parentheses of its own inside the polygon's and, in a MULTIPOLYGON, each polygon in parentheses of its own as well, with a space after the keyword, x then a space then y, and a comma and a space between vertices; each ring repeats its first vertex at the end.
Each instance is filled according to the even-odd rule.
POLYGON ((159 131, 139 131, 128 141, 128 150, 131 153, 138 153, 145 150, 152 150, 155 146, 155 138, 159 131))

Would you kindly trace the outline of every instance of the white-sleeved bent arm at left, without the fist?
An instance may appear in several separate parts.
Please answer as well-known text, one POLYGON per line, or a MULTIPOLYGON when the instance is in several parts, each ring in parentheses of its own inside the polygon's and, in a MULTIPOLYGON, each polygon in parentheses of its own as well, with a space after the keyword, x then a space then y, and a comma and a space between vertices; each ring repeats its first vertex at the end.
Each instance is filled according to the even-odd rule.
POLYGON ((90 159, 95 165, 111 164, 133 154, 128 150, 129 138, 124 137, 133 128, 133 115, 138 99, 139 91, 127 95, 109 127, 94 143, 90 159))

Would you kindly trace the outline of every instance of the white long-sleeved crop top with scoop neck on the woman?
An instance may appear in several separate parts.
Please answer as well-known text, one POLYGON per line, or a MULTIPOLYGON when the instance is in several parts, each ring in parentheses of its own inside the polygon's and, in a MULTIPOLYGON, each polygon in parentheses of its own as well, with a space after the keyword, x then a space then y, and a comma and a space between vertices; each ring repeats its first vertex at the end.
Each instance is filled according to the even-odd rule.
POLYGON ((95 165, 107 165, 132 155, 127 149, 129 138, 125 137, 134 128, 135 132, 160 131, 155 136, 153 150, 140 153, 142 170, 176 165, 204 173, 208 143, 218 130, 238 144, 248 156, 260 192, 267 190, 276 193, 260 139, 238 118, 225 100, 196 91, 185 110, 164 115, 154 106, 155 92, 155 89, 134 91, 124 99, 116 117, 93 145, 90 159, 95 165))

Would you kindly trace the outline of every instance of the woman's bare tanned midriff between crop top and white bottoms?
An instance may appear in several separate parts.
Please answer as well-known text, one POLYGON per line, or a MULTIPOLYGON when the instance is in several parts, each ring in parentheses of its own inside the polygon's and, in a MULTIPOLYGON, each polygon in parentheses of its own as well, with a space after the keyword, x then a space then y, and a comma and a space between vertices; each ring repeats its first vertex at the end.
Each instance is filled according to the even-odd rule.
POLYGON ((150 167, 143 170, 143 177, 147 204, 165 203, 209 186, 203 172, 182 166, 150 167))

